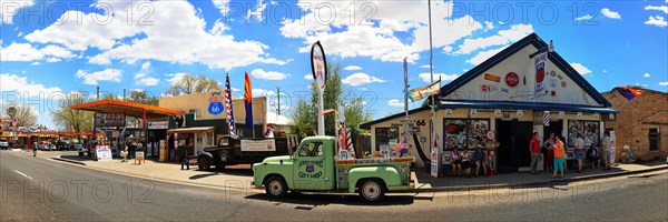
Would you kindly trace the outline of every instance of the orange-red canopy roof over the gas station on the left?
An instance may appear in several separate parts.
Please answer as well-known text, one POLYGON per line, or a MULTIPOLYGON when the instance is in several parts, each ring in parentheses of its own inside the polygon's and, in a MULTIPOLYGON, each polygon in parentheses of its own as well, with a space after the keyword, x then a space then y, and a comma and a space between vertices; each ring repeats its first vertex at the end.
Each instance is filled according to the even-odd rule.
POLYGON ((144 115, 144 111, 146 111, 146 118, 148 119, 165 118, 171 114, 184 113, 184 111, 118 100, 98 100, 95 102, 75 104, 71 108, 73 110, 86 110, 100 113, 126 114, 135 118, 141 118, 144 115))

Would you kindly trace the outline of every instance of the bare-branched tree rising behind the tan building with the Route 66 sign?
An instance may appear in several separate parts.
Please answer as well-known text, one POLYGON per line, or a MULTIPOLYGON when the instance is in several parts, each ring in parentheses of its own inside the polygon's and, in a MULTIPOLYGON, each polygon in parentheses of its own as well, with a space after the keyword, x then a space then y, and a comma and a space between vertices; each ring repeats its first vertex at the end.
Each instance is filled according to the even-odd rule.
POLYGON ((203 93, 222 90, 220 82, 204 75, 194 77, 190 73, 183 75, 180 81, 171 83, 165 93, 171 95, 203 93))

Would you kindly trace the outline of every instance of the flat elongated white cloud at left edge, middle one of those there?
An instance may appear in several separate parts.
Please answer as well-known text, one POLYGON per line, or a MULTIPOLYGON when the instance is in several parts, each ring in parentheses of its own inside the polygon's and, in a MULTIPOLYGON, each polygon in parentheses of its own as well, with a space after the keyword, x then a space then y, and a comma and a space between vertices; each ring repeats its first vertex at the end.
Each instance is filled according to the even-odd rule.
MULTIPOLYGON (((0 40, 0 46, 1 44, 2 41, 0 40)), ((51 61, 53 61, 53 59, 57 59, 58 61, 60 61, 60 59, 70 59, 76 57, 76 54, 73 54, 71 51, 53 44, 49 44, 45 48, 37 49, 30 43, 16 42, 12 42, 6 48, 0 47, 0 56, 2 58, 2 61, 21 62, 37 61, 43 59, 50 59, 51 61)))

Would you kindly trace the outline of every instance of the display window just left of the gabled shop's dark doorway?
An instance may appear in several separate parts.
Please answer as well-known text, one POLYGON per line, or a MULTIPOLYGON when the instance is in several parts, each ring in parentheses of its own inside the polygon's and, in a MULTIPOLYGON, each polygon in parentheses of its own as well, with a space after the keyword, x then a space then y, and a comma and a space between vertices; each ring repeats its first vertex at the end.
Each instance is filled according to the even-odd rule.
POLYGON ((487 131, 489 131, 490 121, 484 119, 445 119, 443 121, 443 149, 451 150, 454 147, 463 149, 473 143, 483 141, 487 131))

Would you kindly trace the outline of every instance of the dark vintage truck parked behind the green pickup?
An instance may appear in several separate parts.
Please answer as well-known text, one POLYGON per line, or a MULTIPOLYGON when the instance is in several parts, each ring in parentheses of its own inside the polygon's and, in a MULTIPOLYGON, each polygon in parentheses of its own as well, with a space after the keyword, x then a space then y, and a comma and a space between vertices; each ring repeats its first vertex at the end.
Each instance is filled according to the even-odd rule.
POLYGON ((238 138, 224 135, 217 145, 204 148, 197 155, 199 169, 225 169, 225 165, 258 163, 267 157, 286 155, 296 147, 295 135, 281 138, 238 138))

